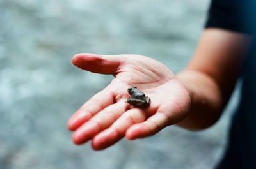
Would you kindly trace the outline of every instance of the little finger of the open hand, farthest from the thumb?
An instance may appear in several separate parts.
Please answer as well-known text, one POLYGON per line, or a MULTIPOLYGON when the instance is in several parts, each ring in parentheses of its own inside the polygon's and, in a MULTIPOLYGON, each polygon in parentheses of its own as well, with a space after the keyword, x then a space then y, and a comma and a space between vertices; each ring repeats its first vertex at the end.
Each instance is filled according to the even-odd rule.
POLYGON ((164 113, 157 112, 145 122, 134 124, 127 130, 125 136, 129 140, 154 135, 170 124, 170 118, 164 113))

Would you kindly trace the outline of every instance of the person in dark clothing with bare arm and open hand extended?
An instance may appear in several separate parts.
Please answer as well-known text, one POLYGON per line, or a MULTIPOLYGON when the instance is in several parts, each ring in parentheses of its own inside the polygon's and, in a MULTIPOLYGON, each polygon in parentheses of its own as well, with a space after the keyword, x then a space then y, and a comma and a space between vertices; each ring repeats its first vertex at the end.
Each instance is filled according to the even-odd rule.
POLYGON ((75 55, 72 62, 78 68, 115 78, 68 121, 74 143, 92 140, 93 149, 101 150, 124 137, 152 136, 172 124, 191 130, 208 128, 218 121, 237 79, 243 77, 230 145, 218 167, 256 168, 256 61, 248 57, 253 54, 254 35, 252 22, 244 22, 245 17, 252 17, 249 2, 212 1, 193 59, 177 75, 141 55, 75 55), (148 108, 126 102, 132 86, 151 99, 148 108))

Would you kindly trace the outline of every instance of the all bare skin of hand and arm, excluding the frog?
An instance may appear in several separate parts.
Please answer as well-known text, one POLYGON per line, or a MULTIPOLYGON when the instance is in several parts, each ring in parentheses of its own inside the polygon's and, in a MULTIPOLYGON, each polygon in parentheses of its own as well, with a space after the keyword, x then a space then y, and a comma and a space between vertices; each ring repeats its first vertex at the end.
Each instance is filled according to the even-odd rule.
POLYGON ((177 75, 141 55, 75 55, 72 62, 78 68, 115 78, 68 121, 73 142, 92 140, 93 149, 101 150, 124 137, 152 136, 172 124, 192 130, 211 126, 230 98, 251 41, 246 34, 205 29, 192 61, 177 75), (125 103, 132 86, 151 98, 150 107, 125 103))

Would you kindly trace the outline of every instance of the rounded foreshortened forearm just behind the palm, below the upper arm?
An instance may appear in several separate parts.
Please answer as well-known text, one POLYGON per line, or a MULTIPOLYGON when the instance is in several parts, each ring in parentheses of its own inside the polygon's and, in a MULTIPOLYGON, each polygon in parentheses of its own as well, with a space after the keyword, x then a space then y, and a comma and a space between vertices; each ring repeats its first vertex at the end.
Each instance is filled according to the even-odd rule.
POLYGON ((177 78, 187 87, 191 109, 178 125, 192 130, 204 129, 218 120, 225 106, 221 89, 209 75, 195 70, 184 70, 177 78))

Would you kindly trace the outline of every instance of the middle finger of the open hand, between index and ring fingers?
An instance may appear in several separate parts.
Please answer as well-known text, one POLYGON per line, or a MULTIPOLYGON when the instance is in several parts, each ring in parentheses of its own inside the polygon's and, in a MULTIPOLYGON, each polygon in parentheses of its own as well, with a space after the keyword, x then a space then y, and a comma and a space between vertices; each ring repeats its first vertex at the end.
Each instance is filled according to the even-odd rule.
POLYGON ((127 110, 127 104, 124 100, 118 101, 109 107, 104 108, 90 121, 85 122, 81 127, 76 129, 73 133, 74 143, 82 144, 92 139, 103 129, 108 128, 113 122, 120 117, 127 110))

